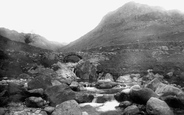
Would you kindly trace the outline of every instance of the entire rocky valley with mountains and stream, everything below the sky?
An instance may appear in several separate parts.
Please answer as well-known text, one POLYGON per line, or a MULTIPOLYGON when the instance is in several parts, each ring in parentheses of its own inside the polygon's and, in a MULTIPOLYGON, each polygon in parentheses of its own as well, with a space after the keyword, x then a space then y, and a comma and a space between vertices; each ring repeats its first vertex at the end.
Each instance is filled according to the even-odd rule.
POLYGON ((183 57, 184 14, 134 2, 68 45, 0 28, 0 115, 183 115, 183 57))

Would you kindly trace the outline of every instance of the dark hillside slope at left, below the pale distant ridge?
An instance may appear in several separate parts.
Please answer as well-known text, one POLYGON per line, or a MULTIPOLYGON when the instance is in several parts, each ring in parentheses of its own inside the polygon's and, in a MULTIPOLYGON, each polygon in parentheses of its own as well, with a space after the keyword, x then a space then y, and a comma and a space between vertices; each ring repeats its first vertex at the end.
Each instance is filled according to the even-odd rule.
POLYGON ((50 66, 59 60, 56 53, 0 35, 0 79, 15 78, 37 65, 50 66))

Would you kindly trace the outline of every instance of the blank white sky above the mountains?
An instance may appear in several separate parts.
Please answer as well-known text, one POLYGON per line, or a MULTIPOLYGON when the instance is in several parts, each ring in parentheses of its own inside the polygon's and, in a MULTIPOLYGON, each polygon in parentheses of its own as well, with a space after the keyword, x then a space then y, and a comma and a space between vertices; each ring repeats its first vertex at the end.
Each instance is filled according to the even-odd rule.
POLYGON ((70 43, 129 1, 184 12, 182 0, 0 0, 0 27, 70 43))

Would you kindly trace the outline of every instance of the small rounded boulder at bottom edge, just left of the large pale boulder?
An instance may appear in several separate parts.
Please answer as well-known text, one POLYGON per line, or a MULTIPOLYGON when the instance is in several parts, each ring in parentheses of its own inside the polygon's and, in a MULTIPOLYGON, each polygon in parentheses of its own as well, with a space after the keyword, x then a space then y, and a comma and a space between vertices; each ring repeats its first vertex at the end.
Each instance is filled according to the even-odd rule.
POLYGON ((131 105, 124 109, 123 115, 137 115, 139 112, 139 108, 136 105, 131 105))

